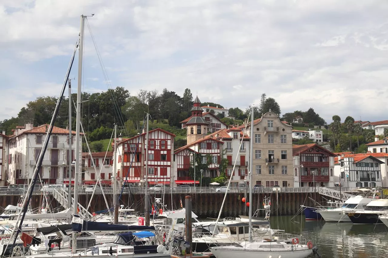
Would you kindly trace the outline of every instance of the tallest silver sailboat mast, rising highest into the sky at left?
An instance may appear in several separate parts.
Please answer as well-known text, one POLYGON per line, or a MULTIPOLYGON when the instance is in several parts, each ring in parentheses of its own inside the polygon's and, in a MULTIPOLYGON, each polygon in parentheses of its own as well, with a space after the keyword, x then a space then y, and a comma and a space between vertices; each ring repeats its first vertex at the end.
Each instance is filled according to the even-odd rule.
MULTIPOLYGON (((78 54, 78 88, 77 88, 77 116, 76 116, 76 137, 75 137, 75 168, 74 168, 74 203, 73 214, 78 213, 78 175, 80 170, 80 127, 81 127, 81 83, 82 83, 82 60, 83 60, 83 34, 85 17, 81 15, 81 29, 80 29, 80 49, 78 54)), ((73 231, 73 245, 72 252, 76 253, 77 234, 73 231)))

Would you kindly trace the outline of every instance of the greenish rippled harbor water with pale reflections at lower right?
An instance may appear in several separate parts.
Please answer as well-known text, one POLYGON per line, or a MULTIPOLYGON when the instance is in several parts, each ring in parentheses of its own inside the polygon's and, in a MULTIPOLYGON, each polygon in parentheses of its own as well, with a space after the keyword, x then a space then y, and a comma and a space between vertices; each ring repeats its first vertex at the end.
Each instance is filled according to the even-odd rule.
POLYGON ((274 216, 270 223, 273 229, 311 240, 322 258, 382 258, 388 251, 388 228, 383 224, 305 221, 304 216, 274 216))

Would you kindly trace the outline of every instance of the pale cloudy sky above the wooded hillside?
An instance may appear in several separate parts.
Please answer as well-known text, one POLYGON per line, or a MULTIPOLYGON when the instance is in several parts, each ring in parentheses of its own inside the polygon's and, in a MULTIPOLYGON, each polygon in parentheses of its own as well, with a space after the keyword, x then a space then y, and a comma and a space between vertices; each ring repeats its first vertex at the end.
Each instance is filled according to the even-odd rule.
MULTIPOLYGON (((0 0, 0 120, 59 94, 92 13, 111 85, 132 95, 190 88, 244 109, 266 93, 282 113, 386 120, 387 12, 386 0, 0 0)), ((84 59, 83 90, 105 91, 87 26, 84 59)))

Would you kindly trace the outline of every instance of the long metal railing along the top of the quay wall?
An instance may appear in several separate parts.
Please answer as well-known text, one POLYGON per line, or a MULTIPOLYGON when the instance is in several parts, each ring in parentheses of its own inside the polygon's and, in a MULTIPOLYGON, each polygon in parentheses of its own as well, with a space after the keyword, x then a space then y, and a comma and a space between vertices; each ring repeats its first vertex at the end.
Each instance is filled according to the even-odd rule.
MULTIPOLYGON (((343 197, 348 197, 349 193, 354 189, 359 189, 362 187, 342 187, 341 192, 343 197)), ((0 195, 22 195, 26 193, 26 188, 0 188, 0 195)), ((67 188, 65 192, 67 193, 67 188)), ((102 191, 105 194, 113 194, 112 187, 102 187, 102 191)), ((95 194, 101 194, 100 188, 96 189, 95 194)), ((118 192, 121 191, 121 187, 119 187, 118 192)), ((340 187, 253 187, 253 193, 275 193, 278 191, 279 193, 320 193, 320 194, 331 194, 333 192, 340 192, 340 187), (334 191, 333 191, 334 190, 334 191)), ((54 191, 47 191, 48 194, 53 194, 54 191)), ((74 189, 72 189, 74 193, 74 189)), ((151 187, 147 190, 150 194, 160 194, 160 193, 225 193, 225 190, 220 187, 200 187, 200 186, 191 186, 191 187, 160 187, 160 189, 152 189, 151 187)), ((247 192, 249 193, 249 187, 229 187, 228 193, 241 193, 247 192)), ((131 193, 131 194, 145 194, 145 187, 124 187, 123 193, 131 193)), ((42 188, 36 187, 34 188, 33 194, 40 195, 43 194, 42 188)), ((78 194, 92 194, 92 191, 87 189, 85 191, 84 187, 80 187, 78 189, 78 194)), ((335 197, 334 197, 335 198, 335 197)), ((338 198, 340 198, 338 196, 338 198)), ((343 198, 344 199, 344 198, 343 198)))

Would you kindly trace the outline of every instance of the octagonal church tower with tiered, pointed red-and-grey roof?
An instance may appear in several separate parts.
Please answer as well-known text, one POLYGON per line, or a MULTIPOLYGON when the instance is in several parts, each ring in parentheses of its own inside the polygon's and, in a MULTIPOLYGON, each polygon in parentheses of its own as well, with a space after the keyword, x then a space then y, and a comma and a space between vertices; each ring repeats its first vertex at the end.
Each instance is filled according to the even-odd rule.
POLYGON ((198 96, 194 100, 193 108, 191 109, 191 118, 186 123, 187 126, 187 144, 203 138, 208 133, 209 123, 202 117, 203 109, 198 96))

